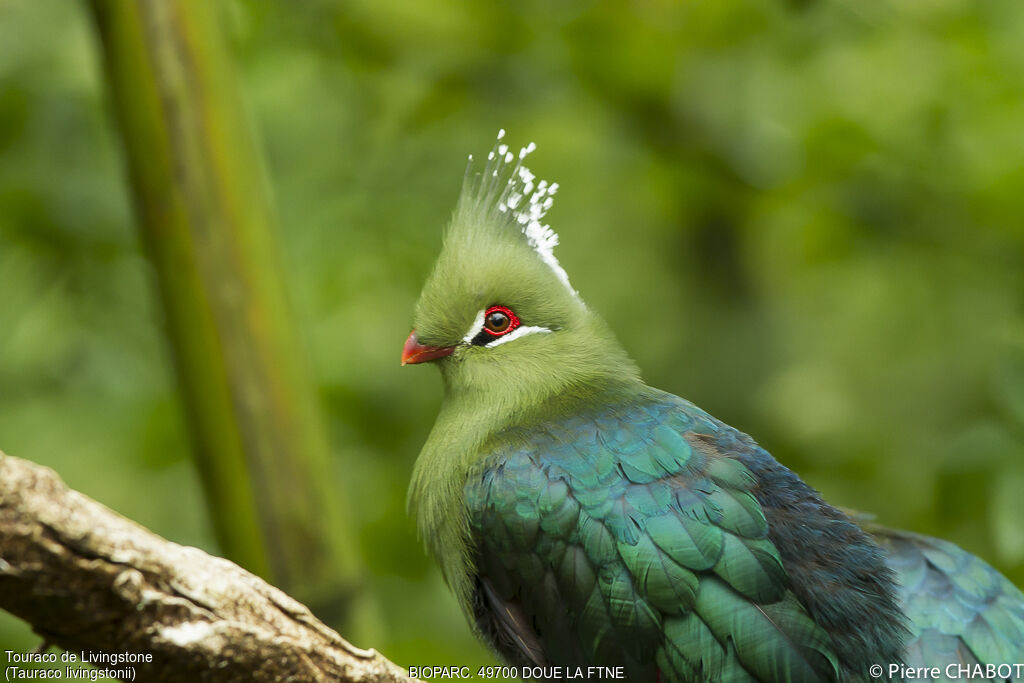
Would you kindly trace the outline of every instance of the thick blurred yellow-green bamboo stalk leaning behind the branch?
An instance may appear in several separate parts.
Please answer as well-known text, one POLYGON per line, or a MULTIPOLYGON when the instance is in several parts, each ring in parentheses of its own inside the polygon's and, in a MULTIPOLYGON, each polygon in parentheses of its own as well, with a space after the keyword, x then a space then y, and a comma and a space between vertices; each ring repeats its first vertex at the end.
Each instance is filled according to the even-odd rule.
POLYGON ((353 544, 217 3, 90 7, 217 537, 314 608, 343 603, 353 544))

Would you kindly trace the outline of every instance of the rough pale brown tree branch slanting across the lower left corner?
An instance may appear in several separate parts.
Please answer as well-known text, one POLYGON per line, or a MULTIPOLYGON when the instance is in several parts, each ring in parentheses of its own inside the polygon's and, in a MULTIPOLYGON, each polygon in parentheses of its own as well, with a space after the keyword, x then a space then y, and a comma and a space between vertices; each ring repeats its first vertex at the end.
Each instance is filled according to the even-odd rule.
POLYGON ((0 607, 144 681, 410 681, 238 565, 166 541, 0 453, 0 607))

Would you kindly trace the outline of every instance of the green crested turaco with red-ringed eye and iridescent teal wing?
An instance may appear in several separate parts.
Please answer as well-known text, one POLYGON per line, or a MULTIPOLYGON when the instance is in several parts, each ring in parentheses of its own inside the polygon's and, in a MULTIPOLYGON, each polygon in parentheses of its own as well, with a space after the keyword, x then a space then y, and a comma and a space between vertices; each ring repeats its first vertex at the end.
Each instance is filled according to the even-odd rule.
POLYGON ((1024 595, 994 568, 828 504, 641 380, 554 255, 558 184, 525 165, 536 144, 504 137, 482 169, 469 157, 401 364, 436 366, 443 385, 410 512, 510 671, 1024 678, 1024 595))

